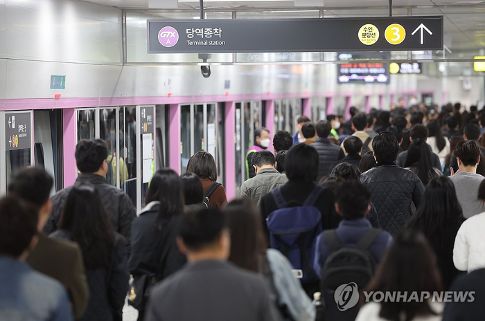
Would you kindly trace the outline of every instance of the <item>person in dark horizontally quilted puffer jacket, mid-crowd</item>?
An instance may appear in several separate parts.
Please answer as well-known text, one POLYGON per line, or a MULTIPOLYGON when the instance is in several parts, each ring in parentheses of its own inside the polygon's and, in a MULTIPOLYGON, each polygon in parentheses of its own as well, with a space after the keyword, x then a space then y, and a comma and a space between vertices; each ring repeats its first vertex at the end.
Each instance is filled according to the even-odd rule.
POLYGON ((318 182, 322 177, 328 175, 330 172, 330 166, 339 160, 340 147, 330 143, 330 140, 327 138, 332 130, 332 125, 330 125, 330 122, 319 120, 319 122, 317 122, 315 125, 315 129, 317 130, 318 138, 315 143, 310 144, 310 146, 317 149, 318 152, 318 182))

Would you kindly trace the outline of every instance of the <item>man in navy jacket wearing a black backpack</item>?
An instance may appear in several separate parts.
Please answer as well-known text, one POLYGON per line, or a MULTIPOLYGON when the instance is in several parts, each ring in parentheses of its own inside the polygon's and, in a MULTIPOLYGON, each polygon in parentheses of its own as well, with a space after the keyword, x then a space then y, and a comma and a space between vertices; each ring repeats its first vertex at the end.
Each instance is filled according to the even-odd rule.
POLYGON ((365 219, 371 209, 371 193, 358 181, 349 180, 336 193, 335 210, 342 221, 335 230, 317 237, 314 268, 321 276, 320 291, 325 320, 355 320, 358 308, 340 311, 334 293, 343 284, 355 283, 361 291, 391 244, 388 232, 372 228, 365 219))

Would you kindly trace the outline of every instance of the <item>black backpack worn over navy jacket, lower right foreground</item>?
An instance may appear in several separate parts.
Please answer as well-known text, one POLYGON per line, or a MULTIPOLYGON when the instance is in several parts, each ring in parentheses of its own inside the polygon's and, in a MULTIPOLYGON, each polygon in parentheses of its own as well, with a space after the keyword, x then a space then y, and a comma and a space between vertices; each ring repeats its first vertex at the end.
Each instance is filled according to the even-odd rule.
MULTIPOLYGON (((335 230, 324 232, 326 245, 328 247, 328 258, 321 270, 320 291, 322 303, 324 304, 324 320, 355 320, 359 312, 358 292, 367 286, 374 272, 376 262, 369 253, 369 246, 380 235, 382 230, 371 228, 365 232, 364 236, 355 248, 342 248, 335 230), (343 297, 343 302, 337 302, 335 291, 342 291, 344 284, 350 285, 354 297, 343 297), (357 294, 355 294, 357 293, 357 294), (356 297, 355 297, 356 296, 356 297), (352 302, 349 302, 352 300, 352 302), (354 305, 353 305, 354 304, 354 305), (342 306, 341 306, 342 305, 342 306)), ((349 288, 347 288, 349 290, 349 288)))

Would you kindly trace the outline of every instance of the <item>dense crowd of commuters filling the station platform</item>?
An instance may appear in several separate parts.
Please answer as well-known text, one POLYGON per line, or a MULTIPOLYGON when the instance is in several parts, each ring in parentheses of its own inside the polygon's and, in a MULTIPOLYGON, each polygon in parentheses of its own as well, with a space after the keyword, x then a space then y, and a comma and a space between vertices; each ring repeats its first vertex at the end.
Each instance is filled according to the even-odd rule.
POLYGON ((139 213, 106 181, 103 140, 80 140, 76 183, 52 197, 44 169, 21 169, 0 199, 0 320, 121 321, 126 298, 141 321, 479 320, 485 109, 349 116, 255 131, 229 203, 207 152, 155 172, 139 213))

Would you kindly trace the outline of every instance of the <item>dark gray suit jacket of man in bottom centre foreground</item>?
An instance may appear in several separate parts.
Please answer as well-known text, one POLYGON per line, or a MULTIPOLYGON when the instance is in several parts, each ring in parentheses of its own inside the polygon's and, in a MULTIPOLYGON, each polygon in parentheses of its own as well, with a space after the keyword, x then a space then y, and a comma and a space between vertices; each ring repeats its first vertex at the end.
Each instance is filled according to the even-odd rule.
POLYGON ((146 321, 276 321, 276 318, 263 277, 216 260, 188 264, 157 284, 145 315, 146 321))

